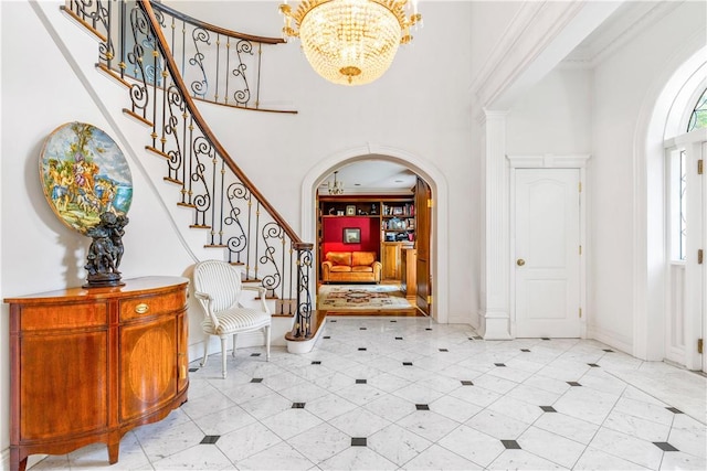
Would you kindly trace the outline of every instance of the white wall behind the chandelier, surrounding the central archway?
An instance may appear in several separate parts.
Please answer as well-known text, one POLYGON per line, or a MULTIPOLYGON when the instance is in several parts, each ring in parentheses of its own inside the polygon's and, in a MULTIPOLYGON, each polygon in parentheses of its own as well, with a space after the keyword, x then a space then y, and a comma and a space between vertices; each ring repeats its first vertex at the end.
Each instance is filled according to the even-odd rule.
MULTIPOLYGON (((177 6, 181 8, 182 3, 177 6)), ((240 6, 229 4, 239 10, 240 6)), ((433 189, 435 183, 449 189, 449 205, 435 210, 445 212, 452 226, 440 227, 434 236, 444 247, 453 247, 454 259, 469 260, 449 267, 446 258, 436 260, 437 265, 445 264, 442 269, 446 271, 446 282, 432 282, 439 289, 437 299, 442 297, 449 303, 444 314, 451 322, 471 322, 469 314, 478 303, 476 285, 472 282, 478 271, 477 264, 472 263, 478 246, 478 171, 474 171, 477 161, 471 148, 471 105, 465 98, 472 78, 466 47, 471 42, 466 28, 469 8, 468 2, 424 4, 424 29, 414 33, 410 46, 399 50, 392 67, 379 81, 365 87, 326 82, 312 71, 297 43, 276 46, 282 51, 275 53, 268 51, 270 56, 277 54, 282 61, 268 62, 268 73, 279 81, 273 79, 262 90, 264 100, 282 101, 286 90, 297 115, 230 111, 200 105, 239 165, 303 235, 314 232, 303 227, 296 215, 302 211, 314 214, 314 201, 303 203, 293 195, 300 192, 310 172, 320 179, 330 172, 331 169, 317 170, 323 161, 336 167, 336 160, 342 159, 338 156, 349 149, 398 149, 400 154, 414 156, 430 173, 441 174, 444 181, 430 183, 433 189), (453 73, 449 72, 449 56, 441 54, 449 51, 450 44, 458 45, 454 49, 453 73)), ((255 13, 265 14, 262 10, 261 7, 255 13)), ((246 22, 244 17, 249 13, 233 18, 246 22)), ((277 36, 281 24, 276 21, 270 35, 277 36)), ((440 195, 433 196, 439 200, 440 195)))

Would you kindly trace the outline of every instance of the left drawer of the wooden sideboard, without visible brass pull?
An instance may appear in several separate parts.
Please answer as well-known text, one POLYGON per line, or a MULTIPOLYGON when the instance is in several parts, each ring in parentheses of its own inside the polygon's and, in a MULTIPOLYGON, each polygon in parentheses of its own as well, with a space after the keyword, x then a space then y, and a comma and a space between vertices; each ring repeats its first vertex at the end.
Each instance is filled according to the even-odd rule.
POLYGON ((105 302, 25 306, 22 308, 20 329, 31 332, 106 325, 107 312, 105 302))

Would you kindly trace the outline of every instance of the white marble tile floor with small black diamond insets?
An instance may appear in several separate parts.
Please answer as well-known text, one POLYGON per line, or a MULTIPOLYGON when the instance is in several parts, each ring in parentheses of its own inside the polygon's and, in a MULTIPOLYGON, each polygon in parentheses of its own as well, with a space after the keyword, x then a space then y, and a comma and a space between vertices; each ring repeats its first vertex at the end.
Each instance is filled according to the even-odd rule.
POLYGON ((600 342, 336 318, 308 354, 261 352, 229 355, 226 379, 220 353, 194 361, 189 402, 128 432, 115 465, 93 445, 32 469, 707 469, 705 416, 682 409, 705 404, 707 379, 600 342))

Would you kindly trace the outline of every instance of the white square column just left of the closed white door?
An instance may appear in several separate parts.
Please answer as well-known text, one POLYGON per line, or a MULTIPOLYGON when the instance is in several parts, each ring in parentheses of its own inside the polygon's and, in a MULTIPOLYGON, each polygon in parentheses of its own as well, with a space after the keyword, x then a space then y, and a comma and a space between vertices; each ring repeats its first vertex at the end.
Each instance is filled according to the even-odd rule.
POLYGON ((484 340, 508 340, 509 234, 506 111, 484 110, 482 159, 482 312, 484 340))

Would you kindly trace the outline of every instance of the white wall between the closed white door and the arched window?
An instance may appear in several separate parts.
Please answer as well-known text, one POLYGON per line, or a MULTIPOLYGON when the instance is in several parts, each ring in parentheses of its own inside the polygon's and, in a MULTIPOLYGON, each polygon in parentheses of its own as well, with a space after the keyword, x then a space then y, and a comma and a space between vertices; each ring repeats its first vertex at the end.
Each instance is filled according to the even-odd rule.
POLYGON ((640 118, 651 113, 669 78, 672 71, 665 67, 676 67, 706 44, 705 8, 705 2, 680 3, 624 46, 610 51, 594 71, 590 173, 594 272, 589 319, 597 339, 624 347, 636 342, 634 322, 648 308, 634 289, 646 277, 634 270, 644 265, 641 239, 647 231, 636 212, 645 211, 651 191, 645 186, 645 157, 636 154, 636 142, 646 140, 640 118))

